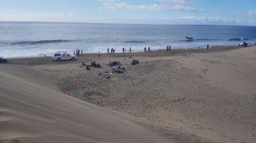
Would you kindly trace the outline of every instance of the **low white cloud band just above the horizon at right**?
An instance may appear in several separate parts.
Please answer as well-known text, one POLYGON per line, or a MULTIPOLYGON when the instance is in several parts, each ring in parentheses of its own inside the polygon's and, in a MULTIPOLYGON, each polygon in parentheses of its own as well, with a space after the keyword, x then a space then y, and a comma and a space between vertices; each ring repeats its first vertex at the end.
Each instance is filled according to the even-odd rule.
POLYGON ((236 23, 240 24, 243 23, 240 20, 235 20, 233 18, 218 18, 218 17, 194 17, 194 16, 189 16, 189 17, 179 17, 179 18, 174 18, 176 21, 187 21, 187 22, 200 22, 200 23, 236 23))

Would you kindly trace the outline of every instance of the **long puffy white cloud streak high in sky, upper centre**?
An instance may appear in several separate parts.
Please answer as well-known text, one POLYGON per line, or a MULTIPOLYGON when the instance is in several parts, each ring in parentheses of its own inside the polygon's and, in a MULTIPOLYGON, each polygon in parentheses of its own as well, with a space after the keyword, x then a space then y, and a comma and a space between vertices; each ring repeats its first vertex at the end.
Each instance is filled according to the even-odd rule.
POLYGON ((170 6, 170 5, 151 5, 151 6, 145 6, 145 5, 129 5, 126 3, 116 3, 116 4, 107 4, 103 3, 105 8, 108 8, 110 10, 116 10, 118 8, 120 9, 127 9, 127 10, 140 10, 140 11, 171 11, 171 10, 180 10, 180 11, 194 11, 194 12, 203 12, 202 9, 197 9, 193 7, 185 7, 185 6, 170 6))

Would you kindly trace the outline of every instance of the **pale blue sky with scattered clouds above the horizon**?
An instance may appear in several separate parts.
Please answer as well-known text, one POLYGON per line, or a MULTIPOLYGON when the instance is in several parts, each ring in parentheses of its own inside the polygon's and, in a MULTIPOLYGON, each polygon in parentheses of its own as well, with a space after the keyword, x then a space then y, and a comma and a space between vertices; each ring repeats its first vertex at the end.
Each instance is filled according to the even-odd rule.
POLYGON ((0 21, 256 26, 256 0, 0 0, 0 21))

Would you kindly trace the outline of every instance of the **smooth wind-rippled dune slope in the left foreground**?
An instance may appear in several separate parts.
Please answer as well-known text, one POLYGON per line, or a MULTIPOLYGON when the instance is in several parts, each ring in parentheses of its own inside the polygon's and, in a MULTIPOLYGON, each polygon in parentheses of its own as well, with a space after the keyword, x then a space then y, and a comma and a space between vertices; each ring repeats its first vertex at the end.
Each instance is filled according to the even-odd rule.
POLYGON ((211 142, 59 92, 41 70, 0 65, 0 142, 211 142))

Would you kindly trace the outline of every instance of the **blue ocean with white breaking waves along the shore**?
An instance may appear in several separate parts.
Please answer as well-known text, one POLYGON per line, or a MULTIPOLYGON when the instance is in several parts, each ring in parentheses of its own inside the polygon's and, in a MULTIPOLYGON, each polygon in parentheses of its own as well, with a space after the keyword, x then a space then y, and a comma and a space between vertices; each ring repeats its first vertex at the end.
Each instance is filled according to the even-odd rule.
POLYGON ((56 52, 106 53, 132 47, 133 52, 177 48, 205 48, 256 42, 256 26, 95 24, 54 22, 0 22, 0 56, 31 57, 56 52), (186 39, 186 36, 193 39, 186 39))

